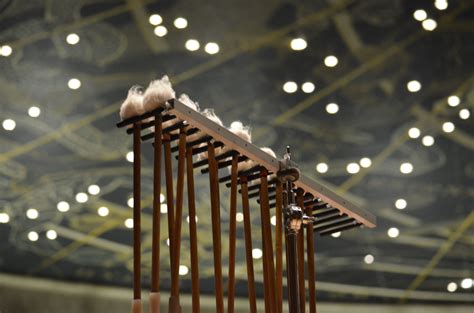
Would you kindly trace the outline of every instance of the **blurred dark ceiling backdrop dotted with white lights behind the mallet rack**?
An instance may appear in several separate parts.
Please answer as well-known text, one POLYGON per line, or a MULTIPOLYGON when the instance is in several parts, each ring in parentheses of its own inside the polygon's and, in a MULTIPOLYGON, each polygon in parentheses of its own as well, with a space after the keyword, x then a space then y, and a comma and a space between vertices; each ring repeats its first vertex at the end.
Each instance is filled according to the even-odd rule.
MULTIPOLYGON (((128 89, 164 74, 226 126, 250 125, 256 145, 281 157, 290 144, 305 175, 377 216, 375 229, 316 238, 320 312, 472 312, 473 31, 472 0, 0 0, 0 312, 129 311, 133 154, 115 123, 128 89)), ((148 288, 151 145, 143 152, 148 288)), ((196 179, 203 310, 214 312, 209 187, 196 179)), ((242 215, 229 216, 227 197, 246 312, 242 215)))

